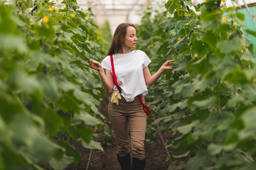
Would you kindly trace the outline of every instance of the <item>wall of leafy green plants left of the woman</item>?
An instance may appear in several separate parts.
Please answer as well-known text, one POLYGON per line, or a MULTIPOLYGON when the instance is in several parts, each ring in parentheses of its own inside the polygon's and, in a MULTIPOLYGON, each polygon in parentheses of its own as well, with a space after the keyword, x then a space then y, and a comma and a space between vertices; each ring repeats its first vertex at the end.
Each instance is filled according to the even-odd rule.
POLYGON ((0 1, 0 169, 64 169, 79 161, 72 138, 103 150, 92 138, 103 90, 88 67, 102 54, 97 27, 90 9, 62 3, 0 1))

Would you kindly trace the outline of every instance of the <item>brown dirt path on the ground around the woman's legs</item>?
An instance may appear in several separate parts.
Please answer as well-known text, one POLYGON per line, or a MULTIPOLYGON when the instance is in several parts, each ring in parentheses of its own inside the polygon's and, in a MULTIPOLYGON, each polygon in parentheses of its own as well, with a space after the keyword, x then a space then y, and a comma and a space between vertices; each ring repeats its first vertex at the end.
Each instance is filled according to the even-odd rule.
MULTIPOLYGON (((145 170, 167 170, 169 162, 165 162, 167 159, 166 150, 159 137, 153 137, 152 143, 145 144, 145 156, 146 156, 146 168, 145 170)), ((103 146, 104 152, 101 150, 93 150, 92 159, 90 161, 89 170, 120 170, 119 163, 117 161, 117 148, 115 144, 113 146, 103 146)), ((85 170, 89 149, 83 149, 84 157, 80 163, 75 166, 70 166, 66 170, 85 170)))

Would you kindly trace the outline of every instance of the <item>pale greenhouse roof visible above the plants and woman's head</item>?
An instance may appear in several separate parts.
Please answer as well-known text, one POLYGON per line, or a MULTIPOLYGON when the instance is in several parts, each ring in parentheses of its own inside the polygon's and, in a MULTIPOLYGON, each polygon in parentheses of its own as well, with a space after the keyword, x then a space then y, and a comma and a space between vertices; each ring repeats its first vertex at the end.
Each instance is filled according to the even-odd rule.
MULTIPOLYGON (((192 0, 194 4, 202 3, 205 0, 192 0)), ((128 22, 132 24, 139 24, 141 21, 141 14, 147 6, 163 7, 167 0, 77 0, 81 8, 92 7, 92 12, 95 15, 95 22, 99 26, 103 25, 106 21, 110 23, 112 33, 118 24, 128 22), (158 4, 158 5, 157 5, 158 4)), ((247 4, 255 3, 256 0, 245 0, 247 4)), ((225 0, 228 7, 242 6, 243 0, 238 0, 237 3, 231 0, 225 0)))

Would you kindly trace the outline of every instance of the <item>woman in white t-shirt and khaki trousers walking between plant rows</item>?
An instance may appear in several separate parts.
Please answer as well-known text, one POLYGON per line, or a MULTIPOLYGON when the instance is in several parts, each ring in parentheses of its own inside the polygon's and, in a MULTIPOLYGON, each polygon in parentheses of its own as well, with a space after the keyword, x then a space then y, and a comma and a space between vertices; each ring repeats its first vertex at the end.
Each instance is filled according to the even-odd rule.
POLYGON ((153 85, 164 70, 172 69, 173 62, 173 60, 166 61, 155 74, 151 75, 148 70, 151 61, 145 52, 132 50, 137 40, 136 28, 133 24, 120 24, 113 35, 107 57, 101 63, 92 59, 89 63, 90 68, 99 72, 103 87, 108 92, 113 92, 108 104, 108 115, 117 140, 117 160, 122 170, 144 170, 146 166, 144 155, 146 114, 138 96, 145 96, 148 93, 146 86, 153 85), (113 83, 110 55, 113 55, 117 84, 122 89, 120 96, 119 90, 113 83))

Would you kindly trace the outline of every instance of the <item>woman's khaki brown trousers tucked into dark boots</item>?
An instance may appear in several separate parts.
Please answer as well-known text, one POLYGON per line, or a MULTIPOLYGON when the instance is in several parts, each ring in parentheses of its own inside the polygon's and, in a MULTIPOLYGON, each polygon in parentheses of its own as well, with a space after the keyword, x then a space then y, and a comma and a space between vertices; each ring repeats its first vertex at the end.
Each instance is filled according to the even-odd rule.
POLYGON ((121 95, 118 105, 109 101, 108 116, 117 140, 117 154, 121 157, 126 155, 131 145, 132 157, 144 159, 146 113, 142 109, 139 97, 135 97, 132 102, 126 102, 121 95), (130 130, 130 144, 128 126, 130 130))

